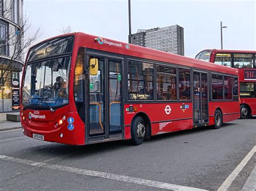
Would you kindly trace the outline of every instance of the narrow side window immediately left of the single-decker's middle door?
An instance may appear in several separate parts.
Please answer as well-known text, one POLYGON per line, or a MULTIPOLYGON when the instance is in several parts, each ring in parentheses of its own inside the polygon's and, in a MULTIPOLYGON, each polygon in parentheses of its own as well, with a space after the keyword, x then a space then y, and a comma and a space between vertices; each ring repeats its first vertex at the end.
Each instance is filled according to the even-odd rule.
POLYGON ((190 100, 190 94, 190 69, 179 68, 179 100, 190 100))

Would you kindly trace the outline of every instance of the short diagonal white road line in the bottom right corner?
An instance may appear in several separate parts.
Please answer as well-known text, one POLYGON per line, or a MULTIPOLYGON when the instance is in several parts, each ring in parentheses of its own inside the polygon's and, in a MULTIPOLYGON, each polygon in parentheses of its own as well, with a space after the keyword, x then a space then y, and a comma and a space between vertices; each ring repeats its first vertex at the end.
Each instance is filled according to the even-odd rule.
POLYGON ((242 168, 245 167, 247 162, 252 158, 253 154, 256 152, 256 146, 252 148, 252 150, 246 155, 244 159, 240 162, 237 168, 227 177, 227 179, 223 182, 223 184, 219 187, 218 191, 227 190, 231 183, 237 178, 238 174, 241 172, 242 168))

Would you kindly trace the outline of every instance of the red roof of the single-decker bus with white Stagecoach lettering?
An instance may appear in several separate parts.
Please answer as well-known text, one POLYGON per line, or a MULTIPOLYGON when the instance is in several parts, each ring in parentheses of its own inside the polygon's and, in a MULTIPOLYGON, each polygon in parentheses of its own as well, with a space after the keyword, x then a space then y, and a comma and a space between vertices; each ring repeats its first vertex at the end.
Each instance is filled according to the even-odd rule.
MULTIPOLYGON (((87 47, 87 48, 97 49, 99 51, 106 51, 106 52, 118 53, 123 55, 130 55, 130 56, 143 58, 143 59, 154 60, 156 62, 157 61, 169 62, 169 63, 179 65, 181 67, 188 66, 188 67, 193 67, 198 69, 212 70, 214 72, 238 75, 238 69, 235 69, 235 68, 230 68, 230 67, 220 66, 220 65, 213 65, 210 62, 188 58, 186 56, 167 53, 163 51, 157 51, 155 49, 123 43, 121 41, 93 36, 91 34, 86 34, 82 32, 62 34, 60 36, 52 37, 44 41, 48 41, 53 38, 71 36, 71 35, 75 35, 75 44, 74 44, 75 48, 73 48, 73 51, 75 52, 78 52, 78 47, 87 47)), ((42 41, 41 43, 43 43, 44 41, 42 41)))

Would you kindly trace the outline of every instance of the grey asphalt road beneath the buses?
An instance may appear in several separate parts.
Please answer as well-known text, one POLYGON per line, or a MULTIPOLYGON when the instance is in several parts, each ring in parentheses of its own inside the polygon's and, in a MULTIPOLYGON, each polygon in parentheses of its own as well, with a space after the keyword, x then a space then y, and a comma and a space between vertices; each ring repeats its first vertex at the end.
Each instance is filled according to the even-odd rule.
MULTIPOLYGON (((256 145, 255 119, 159 135, 139 146, 125 141, 70 146, 25 137, 21 129, 3 131, 0 189, 157 190, 165 182, 217 190, 256 145)), ((254 153, 231 190, 242 188, 255 164, 254 153)))

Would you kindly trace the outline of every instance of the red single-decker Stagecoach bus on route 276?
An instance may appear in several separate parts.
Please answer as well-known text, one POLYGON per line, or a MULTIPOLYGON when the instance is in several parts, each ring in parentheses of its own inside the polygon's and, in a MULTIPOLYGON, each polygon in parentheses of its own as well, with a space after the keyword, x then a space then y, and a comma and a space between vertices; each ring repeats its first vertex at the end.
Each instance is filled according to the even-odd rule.
POLYGON ((21 97, 26 136, 72 145, 239 118, 237 69, 85 33, 31 47, 21 97))

